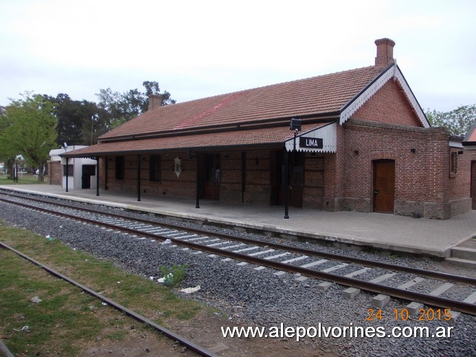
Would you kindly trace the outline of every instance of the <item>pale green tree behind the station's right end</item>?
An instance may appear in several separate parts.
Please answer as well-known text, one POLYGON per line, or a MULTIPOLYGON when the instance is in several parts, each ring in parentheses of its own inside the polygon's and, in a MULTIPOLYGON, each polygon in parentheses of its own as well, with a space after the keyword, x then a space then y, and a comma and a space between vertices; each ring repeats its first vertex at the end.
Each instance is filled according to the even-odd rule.
POLYGON ((427 111, 431 126, 449 128, 451 135, 464 137, 476 122, 476 104, 459 106, 453 111, 427 111))

